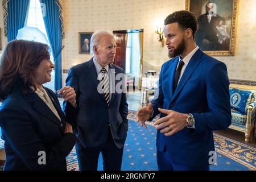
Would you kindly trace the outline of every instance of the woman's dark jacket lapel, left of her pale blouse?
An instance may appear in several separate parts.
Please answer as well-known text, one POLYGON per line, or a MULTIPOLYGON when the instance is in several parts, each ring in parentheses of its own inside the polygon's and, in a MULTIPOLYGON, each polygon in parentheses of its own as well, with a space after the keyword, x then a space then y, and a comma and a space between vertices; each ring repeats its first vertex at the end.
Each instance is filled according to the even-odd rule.
POLYGON ((63 130, 63 127, 61 126, 59 119, 56 117, 54 113, 52 113, 51 109, 49 109, 46 103, 44 103, 44 101, 36 93, 28 93, 25 97, 27 97, 27 101, 31 104, 31 107, 35 111, 42 114, 44 117, 48 118, 49 121, 59 126, 61 131, 63 130))

